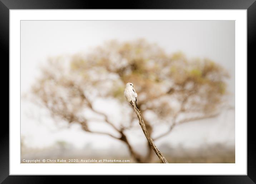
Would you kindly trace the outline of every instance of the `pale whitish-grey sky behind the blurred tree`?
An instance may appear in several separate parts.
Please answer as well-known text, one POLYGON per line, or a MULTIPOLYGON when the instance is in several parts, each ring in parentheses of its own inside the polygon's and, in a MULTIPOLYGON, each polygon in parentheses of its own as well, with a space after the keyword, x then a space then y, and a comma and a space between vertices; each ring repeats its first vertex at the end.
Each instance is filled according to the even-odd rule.
MULTIPOLYGON (((167 53, 182 51, 188 58, 207 57, 220 63, 231 75, 228 90, 230 104, 235 106, 235 21, 21 21, 21 94, 28 92, 39 75, 39 66, 44 65, 48 57, 87 52, 112 39, 140 38, 157 43, 167 53)), ((88 142, 95 147, 115 143, 107 136, 98 136, 95 140, 94 135, 84 133, 77 126, 57 131, 52 120, 41 111, 22 101, 21 134, 31 147, 49 146, 56 140, 66 140, 77 147, 84 147, 88 142), (108 140, 107 144, 102 143, 103 139, 108 140)), ((161 141, 172 145, 183 143, 188 147, 203 142, 234 144, 234 112, 207 120, 203 125, 193 122, 179 126, 161 141)))

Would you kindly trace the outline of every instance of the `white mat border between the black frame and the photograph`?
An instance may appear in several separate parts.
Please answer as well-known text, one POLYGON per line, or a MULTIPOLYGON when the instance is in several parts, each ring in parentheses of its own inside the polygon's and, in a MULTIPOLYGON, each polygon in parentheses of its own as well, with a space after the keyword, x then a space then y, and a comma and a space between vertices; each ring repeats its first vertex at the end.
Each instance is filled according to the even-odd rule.
MULTIPOLYGON (((191 45, 188 44, 188 47, 191 45)), ((108 174, 107 170, 109 174, 246 174, 246 51, 246 10, 11 10, 10 174, 108 174), (235 81, 236 112, 240 112, 236 114, 236 164, 147 164, 147 166, 137 164, 136 167, 135 164, 118 164, 118 166, 117 164, 61 164, 61 166, 60 164, 20 164, 20 116, 18 116, 20 115, 20 20, 117 20, 117 18, 118 20, 236 20, 236 70, 239 68, 235 72, 236 75, 239 73, 235 81), (122 169, 119 169, 121 167, 122 169)), ((198 56, 189 53, 189 49, 187 52, 189 56, 198 56)), ((212 59, 220 60, 221 57, 214 58, 215 56, 212 56, 212 59)))

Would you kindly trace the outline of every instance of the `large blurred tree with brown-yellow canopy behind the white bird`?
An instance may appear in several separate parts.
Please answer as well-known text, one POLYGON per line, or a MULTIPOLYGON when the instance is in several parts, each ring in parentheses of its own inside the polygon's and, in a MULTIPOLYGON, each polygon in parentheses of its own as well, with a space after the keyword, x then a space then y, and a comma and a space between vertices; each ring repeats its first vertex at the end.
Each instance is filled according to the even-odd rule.
POLYGON ((120 114, 127 118, 115 124, 107 114, 97 110, 92 99, 111 97, 128 106, 123 91, 125 83, 132 82, 149 135, 158 123, 169 125, 166 132, 151 136, 156 141, 181 123, 217 116, 228 94, 225 82, 228 73, 220 65, 209 59, 188 60, 181 52, 167 55, 158 45, 145 40, 110 41, 70 60, 50 59, 42 72, 43 76, 33 85, 33 94, 52 116, 79 123, 86 132, 122 141, 139 163, 152 162, 153 154, 148 146, 148 153, 143 157, 127 139, 127 130, 139 128, 135 114, 132 111, 120 114), (85 111, 102 116, 119 136, 91 130, 85 111), (147 118, 147 112, 153 113, 157 121, 147 118), (131 113, 130 116, 127 113, 131 113))

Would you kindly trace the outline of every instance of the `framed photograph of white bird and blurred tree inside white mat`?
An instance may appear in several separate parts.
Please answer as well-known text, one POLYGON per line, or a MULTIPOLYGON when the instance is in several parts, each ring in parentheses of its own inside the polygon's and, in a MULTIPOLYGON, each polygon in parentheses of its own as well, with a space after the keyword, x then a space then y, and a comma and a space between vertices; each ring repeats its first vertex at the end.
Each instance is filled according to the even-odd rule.
POLYGON ((235 54, 235 20, 20 20, 20 163, 236 163, 235 54))

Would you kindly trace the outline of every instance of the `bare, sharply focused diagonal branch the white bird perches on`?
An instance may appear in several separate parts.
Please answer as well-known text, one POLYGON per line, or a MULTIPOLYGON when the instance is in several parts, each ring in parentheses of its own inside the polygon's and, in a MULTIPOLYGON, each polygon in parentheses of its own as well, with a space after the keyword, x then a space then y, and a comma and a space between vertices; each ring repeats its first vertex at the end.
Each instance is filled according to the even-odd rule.
POLYGON ((149 144, 151 145, 151 148, 154 150, 154 152, 156 153, 156 155, 158 156, 158 158, 160 159, 160 162, 161 163, 168 163, 166 158, 164 158, 162 152, 159 151, 159 149, 156 147, 154 141, 152 140, 152 138, 149 136, 148 134, 148 131, 146 129, 146 126, 145 126, 145 123, 142 119, 142 116, 141 116, 141 113, 139 111, 139 109, 136 108, 136 106, 131 102, 132 106, 133 106, 133 109, 135 111, 135 113, 137 114, 138 116, 138 119, 139 119, 139 125, 141 126, 142 128, 142 131, 143 133, 145 134, 149 144))

